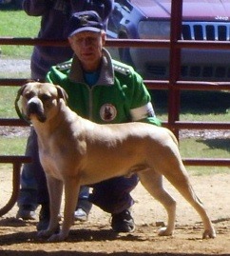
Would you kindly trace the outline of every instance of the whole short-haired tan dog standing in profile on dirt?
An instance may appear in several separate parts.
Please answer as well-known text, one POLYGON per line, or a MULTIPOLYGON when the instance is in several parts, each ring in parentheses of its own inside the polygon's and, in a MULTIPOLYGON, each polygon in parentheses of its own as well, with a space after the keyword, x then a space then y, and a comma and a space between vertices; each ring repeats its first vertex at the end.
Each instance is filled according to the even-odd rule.
POLYGON ((73 223, 81 185, 138 172, 147 191, 163 204, 168 225, 160 235, 172 235, 175 228, 176 202, 163 188, 163 176, 201 216, 203 238, 214 238, 215 229, 191 187, 175 136, 166 128, 144 123, 98 125, 66 106, 67 93, 52 84, 28 83, 19 90, 22 112, 38 135, 39 154, 48 180, 50 222, 39 236, 49 241, 67 238, 73 223), (66 204, 61 231, 58 226, 62 188, 66 204))

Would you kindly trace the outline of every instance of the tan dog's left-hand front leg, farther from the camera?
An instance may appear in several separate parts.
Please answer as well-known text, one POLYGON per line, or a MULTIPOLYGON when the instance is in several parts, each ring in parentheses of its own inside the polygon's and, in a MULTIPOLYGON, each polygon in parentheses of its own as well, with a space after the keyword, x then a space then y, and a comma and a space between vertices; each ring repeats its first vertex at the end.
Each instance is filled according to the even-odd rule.
POLYGON ((49 237, 59 228, 59 213, 62 201, 63 182, 47 175, 49 195, 49 224, 48 229, 38 233, 40 237, 49 237))

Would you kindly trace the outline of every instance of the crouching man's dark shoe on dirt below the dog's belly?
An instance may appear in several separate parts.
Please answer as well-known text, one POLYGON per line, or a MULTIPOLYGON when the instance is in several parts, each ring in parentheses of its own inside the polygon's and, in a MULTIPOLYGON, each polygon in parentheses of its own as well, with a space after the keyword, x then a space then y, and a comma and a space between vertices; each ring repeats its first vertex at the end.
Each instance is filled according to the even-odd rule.
POLYGON ((114 232, 130 233, 135 229, 135 223, 129 209, 118 214, 112 214, 111 226, 114 232))

